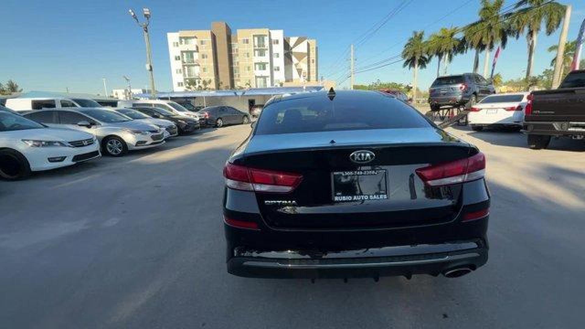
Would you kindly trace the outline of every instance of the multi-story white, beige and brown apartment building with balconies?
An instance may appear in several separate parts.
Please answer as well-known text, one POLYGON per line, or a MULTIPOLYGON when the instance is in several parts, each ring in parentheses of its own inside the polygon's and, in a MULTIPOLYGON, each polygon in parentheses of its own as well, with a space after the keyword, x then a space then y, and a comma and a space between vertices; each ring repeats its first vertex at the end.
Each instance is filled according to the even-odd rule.
POLYGON ((283 30, 238 29, 225 22, 211 30, 167 33, 173 90, 277 87, 316 83, 316 40, 285 37, 283 30))

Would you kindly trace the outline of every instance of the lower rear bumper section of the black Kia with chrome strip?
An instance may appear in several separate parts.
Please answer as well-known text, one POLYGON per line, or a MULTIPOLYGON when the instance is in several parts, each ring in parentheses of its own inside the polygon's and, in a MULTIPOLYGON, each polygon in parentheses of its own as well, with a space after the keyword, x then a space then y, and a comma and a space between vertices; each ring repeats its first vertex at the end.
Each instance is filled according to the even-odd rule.
POLYGON ((484 239, 338 252, 236 248, 228 259, 228 273, 283 279, 439 275, 463 266, 475 270, 487 262, 487 255, 484 239))

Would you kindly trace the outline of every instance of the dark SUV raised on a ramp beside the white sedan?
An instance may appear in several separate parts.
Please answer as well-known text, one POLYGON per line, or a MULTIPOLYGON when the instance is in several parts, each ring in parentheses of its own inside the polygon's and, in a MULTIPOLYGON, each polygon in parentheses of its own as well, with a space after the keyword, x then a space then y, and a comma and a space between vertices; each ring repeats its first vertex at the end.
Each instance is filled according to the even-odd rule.
POLYGON ((438 77, 429 88, 431 111, 442 106, 472 107, 478 100, 495 94, 494 85, 479 74, 464 73, 456 76, 438 77))

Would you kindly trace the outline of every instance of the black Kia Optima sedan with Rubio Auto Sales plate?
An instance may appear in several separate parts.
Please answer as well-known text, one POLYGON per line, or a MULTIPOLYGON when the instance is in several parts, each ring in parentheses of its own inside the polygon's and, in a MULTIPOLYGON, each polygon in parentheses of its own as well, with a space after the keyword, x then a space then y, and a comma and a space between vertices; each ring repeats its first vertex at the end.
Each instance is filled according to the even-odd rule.
POLYGON ((487 262, 485 166, 392 95, 274 97, 223 170, 228 272, 465 275, 487 262))

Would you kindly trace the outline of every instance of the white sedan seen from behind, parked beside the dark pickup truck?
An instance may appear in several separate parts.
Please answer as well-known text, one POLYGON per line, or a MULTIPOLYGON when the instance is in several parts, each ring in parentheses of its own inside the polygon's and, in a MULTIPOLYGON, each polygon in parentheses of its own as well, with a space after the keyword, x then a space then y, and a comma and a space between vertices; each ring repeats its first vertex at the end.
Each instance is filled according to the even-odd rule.
POLYGON ((467 118, 474 131, 484 127, 522 128, 529 92, 489 95, 469 110, 467 118))

